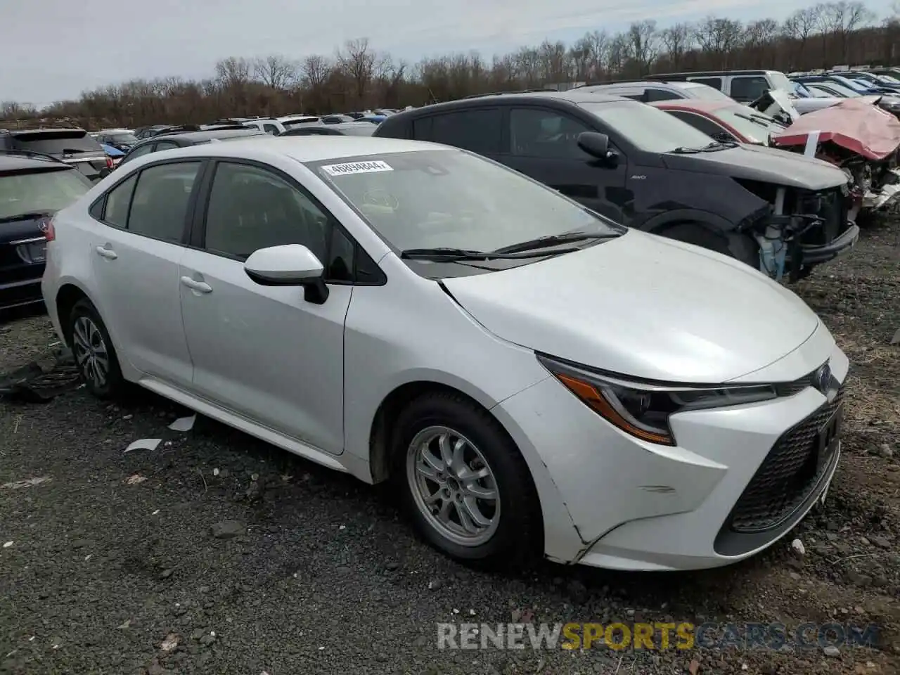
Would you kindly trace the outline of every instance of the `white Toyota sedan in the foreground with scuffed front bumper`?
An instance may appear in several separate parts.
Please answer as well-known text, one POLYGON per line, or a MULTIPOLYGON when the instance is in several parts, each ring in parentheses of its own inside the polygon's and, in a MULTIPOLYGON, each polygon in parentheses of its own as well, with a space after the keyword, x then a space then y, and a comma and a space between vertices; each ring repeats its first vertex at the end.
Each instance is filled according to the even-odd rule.
POLYGON ((840 455, 848 360, 794 293, 456 148, 166 150, 48 228, 90 392, 138 383, 365 482, 457 559, 707 568, 840 455))

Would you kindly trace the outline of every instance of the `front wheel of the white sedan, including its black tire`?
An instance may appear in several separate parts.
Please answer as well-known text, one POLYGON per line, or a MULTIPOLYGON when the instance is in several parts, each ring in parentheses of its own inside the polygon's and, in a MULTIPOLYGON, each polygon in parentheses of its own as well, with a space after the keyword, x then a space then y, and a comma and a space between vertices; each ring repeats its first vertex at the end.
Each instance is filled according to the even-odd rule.
MULTIPOLYGON (((435 392, 410 402, 394 428, 392 480, 419 536, 444 554, 482 568, 521 569, 539 559, 543 554, 543 530, 531 473, 518 448, 489 412, 461 395, 435 392), (450 448, 457 441, 462 442, 462 472, 440 463, 442 436, 446 436, 450 448), (437 473, 432 464, 434 478, 425 478, 417 468, 429 470, 422 455, 423 443, 427 444, 425 451, 430 453, 432 462, 446 467, 437 473), (466 471, 484 473, 484 469, 489 473, 485 478, 474 482, 456 480, 466 471), (446 492, 438 490, 441 486, 446 492), (498 499, 474 496, 475 492, 490 494, 491 487, 498 499), (425 500, 432 491, 442 496, 428 509, 425 500), (444 499, 446 495, 450 495, 449 499, 444 499), (446 524, 440 516, 444 504, 449 518, 446 524), (462 527, 461 513, 472 513, 467 504, 483 518, 482 527, 475 528, 477 534, 465 532, 462 527), (490 525, 484 525, 486 520, 490 525)), ((475 524, 474 518, 468 519, 475 524)))

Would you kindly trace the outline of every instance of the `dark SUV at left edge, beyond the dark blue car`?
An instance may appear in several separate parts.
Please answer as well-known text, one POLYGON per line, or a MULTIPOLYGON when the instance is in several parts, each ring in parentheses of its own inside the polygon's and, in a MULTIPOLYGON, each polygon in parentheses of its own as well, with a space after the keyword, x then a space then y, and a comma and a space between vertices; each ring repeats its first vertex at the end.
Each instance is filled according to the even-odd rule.
POLYGON ((84 129, 40 127, 0 129, 0 150, 23 150, 49 155, 75 166, 96 182, 112 171, 112 157, 84 129))

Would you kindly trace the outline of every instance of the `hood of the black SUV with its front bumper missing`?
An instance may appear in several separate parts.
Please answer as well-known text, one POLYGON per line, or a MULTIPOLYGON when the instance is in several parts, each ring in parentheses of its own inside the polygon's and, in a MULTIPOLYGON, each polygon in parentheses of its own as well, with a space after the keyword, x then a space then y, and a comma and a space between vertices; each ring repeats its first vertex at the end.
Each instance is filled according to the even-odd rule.
POLYGON ((685 155, 670 152, 662 160, 671 169, 730 175, 806 190, 825 190, 847 182, 840 168, 821 159, 756 145, 685 155))

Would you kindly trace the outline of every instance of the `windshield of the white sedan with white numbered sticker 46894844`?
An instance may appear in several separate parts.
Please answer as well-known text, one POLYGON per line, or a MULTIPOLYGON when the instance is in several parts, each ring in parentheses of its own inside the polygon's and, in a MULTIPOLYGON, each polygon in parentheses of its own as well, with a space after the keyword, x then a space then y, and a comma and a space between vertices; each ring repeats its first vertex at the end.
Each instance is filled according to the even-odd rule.
POLYGON ((554 190, 464 150, 343 157, 308 166, 401 250, 496 251, 564 232, 610 237, 626 231, 554 190))

